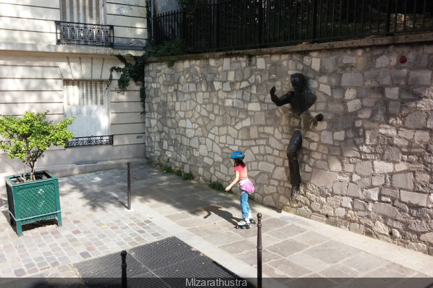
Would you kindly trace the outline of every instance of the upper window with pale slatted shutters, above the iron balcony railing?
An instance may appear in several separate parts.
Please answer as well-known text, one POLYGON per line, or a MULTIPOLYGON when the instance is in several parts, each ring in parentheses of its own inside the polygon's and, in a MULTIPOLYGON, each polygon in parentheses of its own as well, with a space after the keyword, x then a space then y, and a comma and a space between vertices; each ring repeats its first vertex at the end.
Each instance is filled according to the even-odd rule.
POLYGON ((60 0, 62 21, 104 24, 103 0, 60 0))

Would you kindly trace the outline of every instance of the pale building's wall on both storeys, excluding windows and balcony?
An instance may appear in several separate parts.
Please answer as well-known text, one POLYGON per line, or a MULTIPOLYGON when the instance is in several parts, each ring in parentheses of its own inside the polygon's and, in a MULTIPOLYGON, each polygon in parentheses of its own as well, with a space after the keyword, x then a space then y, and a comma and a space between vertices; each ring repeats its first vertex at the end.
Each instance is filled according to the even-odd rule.
MULTIPOLYGON (((106 48, 56 45, 60 1, 0 0, 0 114, 21 116, 26 111, 49 110, 47 118, 54 123, 65 118, 64 80, 108 81, 110 67, 123 66, 112 54, 142 55, 137 48, 146 42, 147 30, 146 8, 141 4, 145 1, 105 2, 106 24, 114 25, 114 44, 119 47, 106 48)), ((108 88, 113 145, 51 147, 37 161, 37 168, 144 156, 139 86, 131 83, 127 91, 118 93, 119 75, 113 76, 108 88)), ((8 159, 3 151, 0 156, 8 159)), ((22 171, 19 161, 9 163, 22 171)), ((0 174, 8 173, 13 173, 12 168, 0 159, 0 174)))

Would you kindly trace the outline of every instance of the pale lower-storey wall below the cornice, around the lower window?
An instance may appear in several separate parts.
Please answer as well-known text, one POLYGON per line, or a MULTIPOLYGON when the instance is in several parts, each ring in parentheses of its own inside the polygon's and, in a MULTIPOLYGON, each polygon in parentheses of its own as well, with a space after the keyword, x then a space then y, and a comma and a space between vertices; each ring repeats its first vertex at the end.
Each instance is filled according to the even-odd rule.
MULTIPOLYGON (((105 48, 108 49, 108 48, 105 48)), ((25 111, 49 110, 47 118, 54 123, 65 118, 63 80, 106 80, 111 66, 121 62, 111 55, 74 55, 59 53, 32 54, 3 51, 0 55, 0 114, 20 116, 25 111)), ((117 91, 118 73, 110 84, 110 134, 113 145, 87 147, 51 147, 37 167, 74 164, 80 161, 109 161, 144 157, 144 117, 139 87, 131 83, 128 90, 117 91)), ((91 135, 87 135, 91 136, 91 135)), ((7 159, 5 152, 0 156, 7 159)), ((8 162, 22 172, 21 162, 8 162)), ((15 174, 0 159, 0 174, 15 174)))

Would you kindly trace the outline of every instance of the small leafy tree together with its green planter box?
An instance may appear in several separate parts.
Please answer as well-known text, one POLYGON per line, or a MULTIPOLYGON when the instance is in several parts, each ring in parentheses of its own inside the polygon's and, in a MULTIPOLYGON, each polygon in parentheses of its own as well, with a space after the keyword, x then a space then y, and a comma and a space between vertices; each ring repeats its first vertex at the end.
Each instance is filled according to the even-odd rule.
POLYGON ((51 145, 65 147, 74 136, 67 130, 74 118, 53 125, 53 121, 46 120, 48 112, 26 112, 22 117, 0 115, 0 149, 8 158, 22 161, 24 168, 23 173, 18 173, 11 165, 17 174, 4 177, 10 224, 17 224, 19 236, 23 224, 43 219, 57 217, 58 226, 62 226, 58 178, 47 171, 36 172, 35 163, 51 145), (29 173, 26 167, 31 168, 29 173))

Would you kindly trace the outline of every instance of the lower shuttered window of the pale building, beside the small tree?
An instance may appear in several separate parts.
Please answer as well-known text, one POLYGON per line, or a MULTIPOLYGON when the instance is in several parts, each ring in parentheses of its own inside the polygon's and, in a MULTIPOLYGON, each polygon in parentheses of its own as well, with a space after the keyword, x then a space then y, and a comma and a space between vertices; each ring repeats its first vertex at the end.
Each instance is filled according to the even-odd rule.
POLYGON ((75 117, 69 131, 75 137, 110 134, 110 108, 107 82, 94 80, 65 80, 65 116, 75 117))

